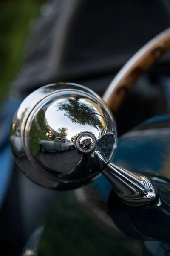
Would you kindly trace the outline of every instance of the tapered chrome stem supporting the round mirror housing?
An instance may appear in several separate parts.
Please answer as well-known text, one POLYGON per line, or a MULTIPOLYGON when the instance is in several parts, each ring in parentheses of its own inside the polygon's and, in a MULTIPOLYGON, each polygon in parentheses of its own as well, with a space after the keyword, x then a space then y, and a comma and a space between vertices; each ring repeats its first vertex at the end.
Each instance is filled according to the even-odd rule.
POLYGON ((102 175, 111 182, 125 204, 146 205, 152 203, 158 196, 156 184, 148 177, 110 163, 101 152, 95 151, 95 157, 102 175))

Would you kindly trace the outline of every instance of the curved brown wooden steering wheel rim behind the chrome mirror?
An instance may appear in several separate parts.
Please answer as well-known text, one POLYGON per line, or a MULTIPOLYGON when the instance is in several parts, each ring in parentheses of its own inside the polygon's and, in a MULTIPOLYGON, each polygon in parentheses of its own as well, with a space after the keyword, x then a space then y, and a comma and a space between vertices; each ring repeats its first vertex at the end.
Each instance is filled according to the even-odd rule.
POLYGON ((127 96, 134 82, 170 49, 170 28, 145 44, 115 76, 103 95, 113 113, 127 96))

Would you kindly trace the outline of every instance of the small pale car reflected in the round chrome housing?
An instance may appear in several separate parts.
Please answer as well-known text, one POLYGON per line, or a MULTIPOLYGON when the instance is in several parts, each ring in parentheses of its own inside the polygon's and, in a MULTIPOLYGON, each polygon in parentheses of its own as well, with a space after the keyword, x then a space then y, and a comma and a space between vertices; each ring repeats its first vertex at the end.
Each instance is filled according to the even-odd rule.
POLYGON ((53 141, 40 140, 40 150, 44 152, 64 151, 74 149, 74 143, 70 140, 57 137, 53 141))

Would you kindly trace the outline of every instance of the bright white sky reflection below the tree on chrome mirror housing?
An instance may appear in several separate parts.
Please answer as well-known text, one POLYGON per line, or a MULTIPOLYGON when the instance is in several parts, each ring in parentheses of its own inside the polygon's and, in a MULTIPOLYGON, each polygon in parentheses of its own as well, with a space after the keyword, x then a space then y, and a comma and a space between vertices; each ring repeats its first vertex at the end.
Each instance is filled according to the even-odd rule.
POLYGON ((68 128, 68 140, 71 140, 72 136, 82 131, 91 131, 92 133, 95 134, 96 137, 99 137, 99 131, 96 128, 90 125, 81 125, 79 123, 73 123, 67 116, 64 116, 64 112, 65 111, 57 110, 56 102, 51 104, 45 111, 45 118, 48 122, 48 125, 53 130, 57 131, 59 128, 62 127, 68 128))

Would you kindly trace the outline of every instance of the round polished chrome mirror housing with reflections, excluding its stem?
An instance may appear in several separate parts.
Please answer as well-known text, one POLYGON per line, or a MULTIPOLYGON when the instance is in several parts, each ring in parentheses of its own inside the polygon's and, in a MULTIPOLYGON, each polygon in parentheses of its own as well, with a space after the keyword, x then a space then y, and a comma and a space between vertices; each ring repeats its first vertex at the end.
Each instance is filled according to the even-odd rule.
POLYGON ((53 189, 81 186, 99 174, 94 151, 108 159, 116 124, 102 99, 77 84, 51 84, 31 93, 11 124, 10 144, 22 172, 53 189))

